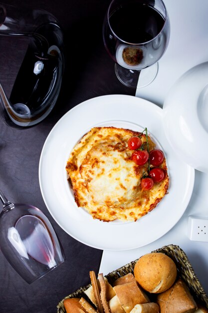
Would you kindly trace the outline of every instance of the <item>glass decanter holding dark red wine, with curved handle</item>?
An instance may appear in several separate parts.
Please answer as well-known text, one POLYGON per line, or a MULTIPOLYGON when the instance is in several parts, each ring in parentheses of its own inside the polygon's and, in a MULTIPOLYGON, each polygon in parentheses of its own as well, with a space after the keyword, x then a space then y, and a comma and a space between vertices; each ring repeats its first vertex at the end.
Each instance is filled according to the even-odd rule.
POLYGON ((10 125, 34 125, 50 113, 60 92, 62 30, 47 11, 0 3, 0 35, 28 39, 9 98, 0 84, 1 116, 10 125))

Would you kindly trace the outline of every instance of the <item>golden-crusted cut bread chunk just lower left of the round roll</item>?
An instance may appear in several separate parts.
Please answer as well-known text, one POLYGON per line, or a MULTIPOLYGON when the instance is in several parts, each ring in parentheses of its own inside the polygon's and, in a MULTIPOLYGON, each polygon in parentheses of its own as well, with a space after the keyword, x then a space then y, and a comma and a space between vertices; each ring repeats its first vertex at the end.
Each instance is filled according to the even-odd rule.
POLYGON ((125 312, 129 313, 138 303, 150 302, 148 296, 138 286, 136 280, 113 287, 125 312))

